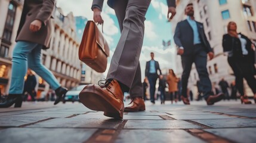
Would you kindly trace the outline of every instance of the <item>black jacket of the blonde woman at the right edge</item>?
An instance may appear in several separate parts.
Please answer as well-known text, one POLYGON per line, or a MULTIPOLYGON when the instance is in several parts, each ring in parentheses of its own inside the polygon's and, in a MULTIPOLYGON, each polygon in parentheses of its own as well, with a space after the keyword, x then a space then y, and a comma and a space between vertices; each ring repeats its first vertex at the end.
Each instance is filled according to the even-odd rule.
MULTIPOLYGON (((255 55, 254 55, 254 50, 251 48, 251 45, 252 45, 251 40, 245 35, 242 35, 241 33, 239 34, 241 35, 241 38, 246 39, 247 43, 245 48, 248 51, 248 58, 249 58, 249 61, 254 63, 255 55)), ((223 52, 232 51, 233 57, 235 57, 237 60, 242 58, 243 56, 242 47, 241 47, 241 42, 239 38, 232 37, 229 34, 223 35, 222 45, 223 45, 223 52)))

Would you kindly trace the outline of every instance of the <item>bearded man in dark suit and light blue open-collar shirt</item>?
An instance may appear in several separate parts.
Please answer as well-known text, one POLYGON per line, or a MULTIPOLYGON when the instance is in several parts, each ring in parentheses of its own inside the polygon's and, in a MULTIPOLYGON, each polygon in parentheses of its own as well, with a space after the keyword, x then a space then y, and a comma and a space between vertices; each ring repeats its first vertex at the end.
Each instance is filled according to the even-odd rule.
POLYGON ((174 42, 179 47, 178 54, 181 55, 183 65, 182 74, 182 97, 184 104, 190 104, 187 98, 187 82, 192 64, 195 63, 200 81, 202 83, 203 97, 208 105, 223 99, 223 94, 213 95, 211 80, 206 69, 207 54, 212 60, 214 53, 205 36, 203 24, 195 21, 193 4, 188 4, 185 10, 187 19, 177 24, 174 42))

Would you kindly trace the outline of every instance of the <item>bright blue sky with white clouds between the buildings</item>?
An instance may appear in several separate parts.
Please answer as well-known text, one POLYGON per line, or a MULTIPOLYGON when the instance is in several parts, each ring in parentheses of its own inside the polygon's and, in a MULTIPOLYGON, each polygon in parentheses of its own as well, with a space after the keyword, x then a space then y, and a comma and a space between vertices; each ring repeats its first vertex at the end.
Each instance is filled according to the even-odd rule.
MULTIPOLYGON (((92 20, 93 17, 91 4, 92 0, 57 0, 57 7, 63 10, 64 15, 72 12, 74 16, 83 16, 88 20, 92 20)), ((150 52, 155 53, 155 60, 159 61, 161 69, 175 70, 175 46, 173 44, 171 23, 167 22, 167 11, 166 0, 151 1, 146 14, 146 21, 144 21, 145 33, 140 55, 142 78, 144 78, 146 61, 150 60, 150 52), (163 49, 162 41, 169 41, 170 39, 172 41, 171 46, 167 49, 163 49)), ((109 67, 121 32, 115 11, 107 5, 107 0, 104 1, 101 17, 104 20, 104 38, 106 38, 110 47, 109 67)), ((99 28, 101 29, 101 27, 99 28)), ((106 73, 104 73, 104 75, 106 75, 106 73)))

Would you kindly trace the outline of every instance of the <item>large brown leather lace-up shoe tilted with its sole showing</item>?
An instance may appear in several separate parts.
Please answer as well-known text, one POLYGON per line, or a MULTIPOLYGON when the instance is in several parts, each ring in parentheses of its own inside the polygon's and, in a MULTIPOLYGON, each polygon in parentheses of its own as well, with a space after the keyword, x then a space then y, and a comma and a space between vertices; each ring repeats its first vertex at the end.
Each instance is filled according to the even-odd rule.
POLYGON ((104 116, 122 119, 124 94, 115 79, 108 79, 102 86, 87 85, 79 94, 79 100, 87 108, 104 111, 104 116))

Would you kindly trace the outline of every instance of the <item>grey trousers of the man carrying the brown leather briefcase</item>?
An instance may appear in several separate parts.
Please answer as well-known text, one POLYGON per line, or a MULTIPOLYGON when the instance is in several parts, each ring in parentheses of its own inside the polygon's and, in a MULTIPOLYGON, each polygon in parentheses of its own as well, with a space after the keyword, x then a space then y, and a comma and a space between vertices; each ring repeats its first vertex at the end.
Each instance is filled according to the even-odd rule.
POLYGON ((116 1, 114 10, 121 29, 107 79, 116 79, 130 89, 131 97, 142 97, 140 52, 144 37, 144 20, 150 0, 116 1))

